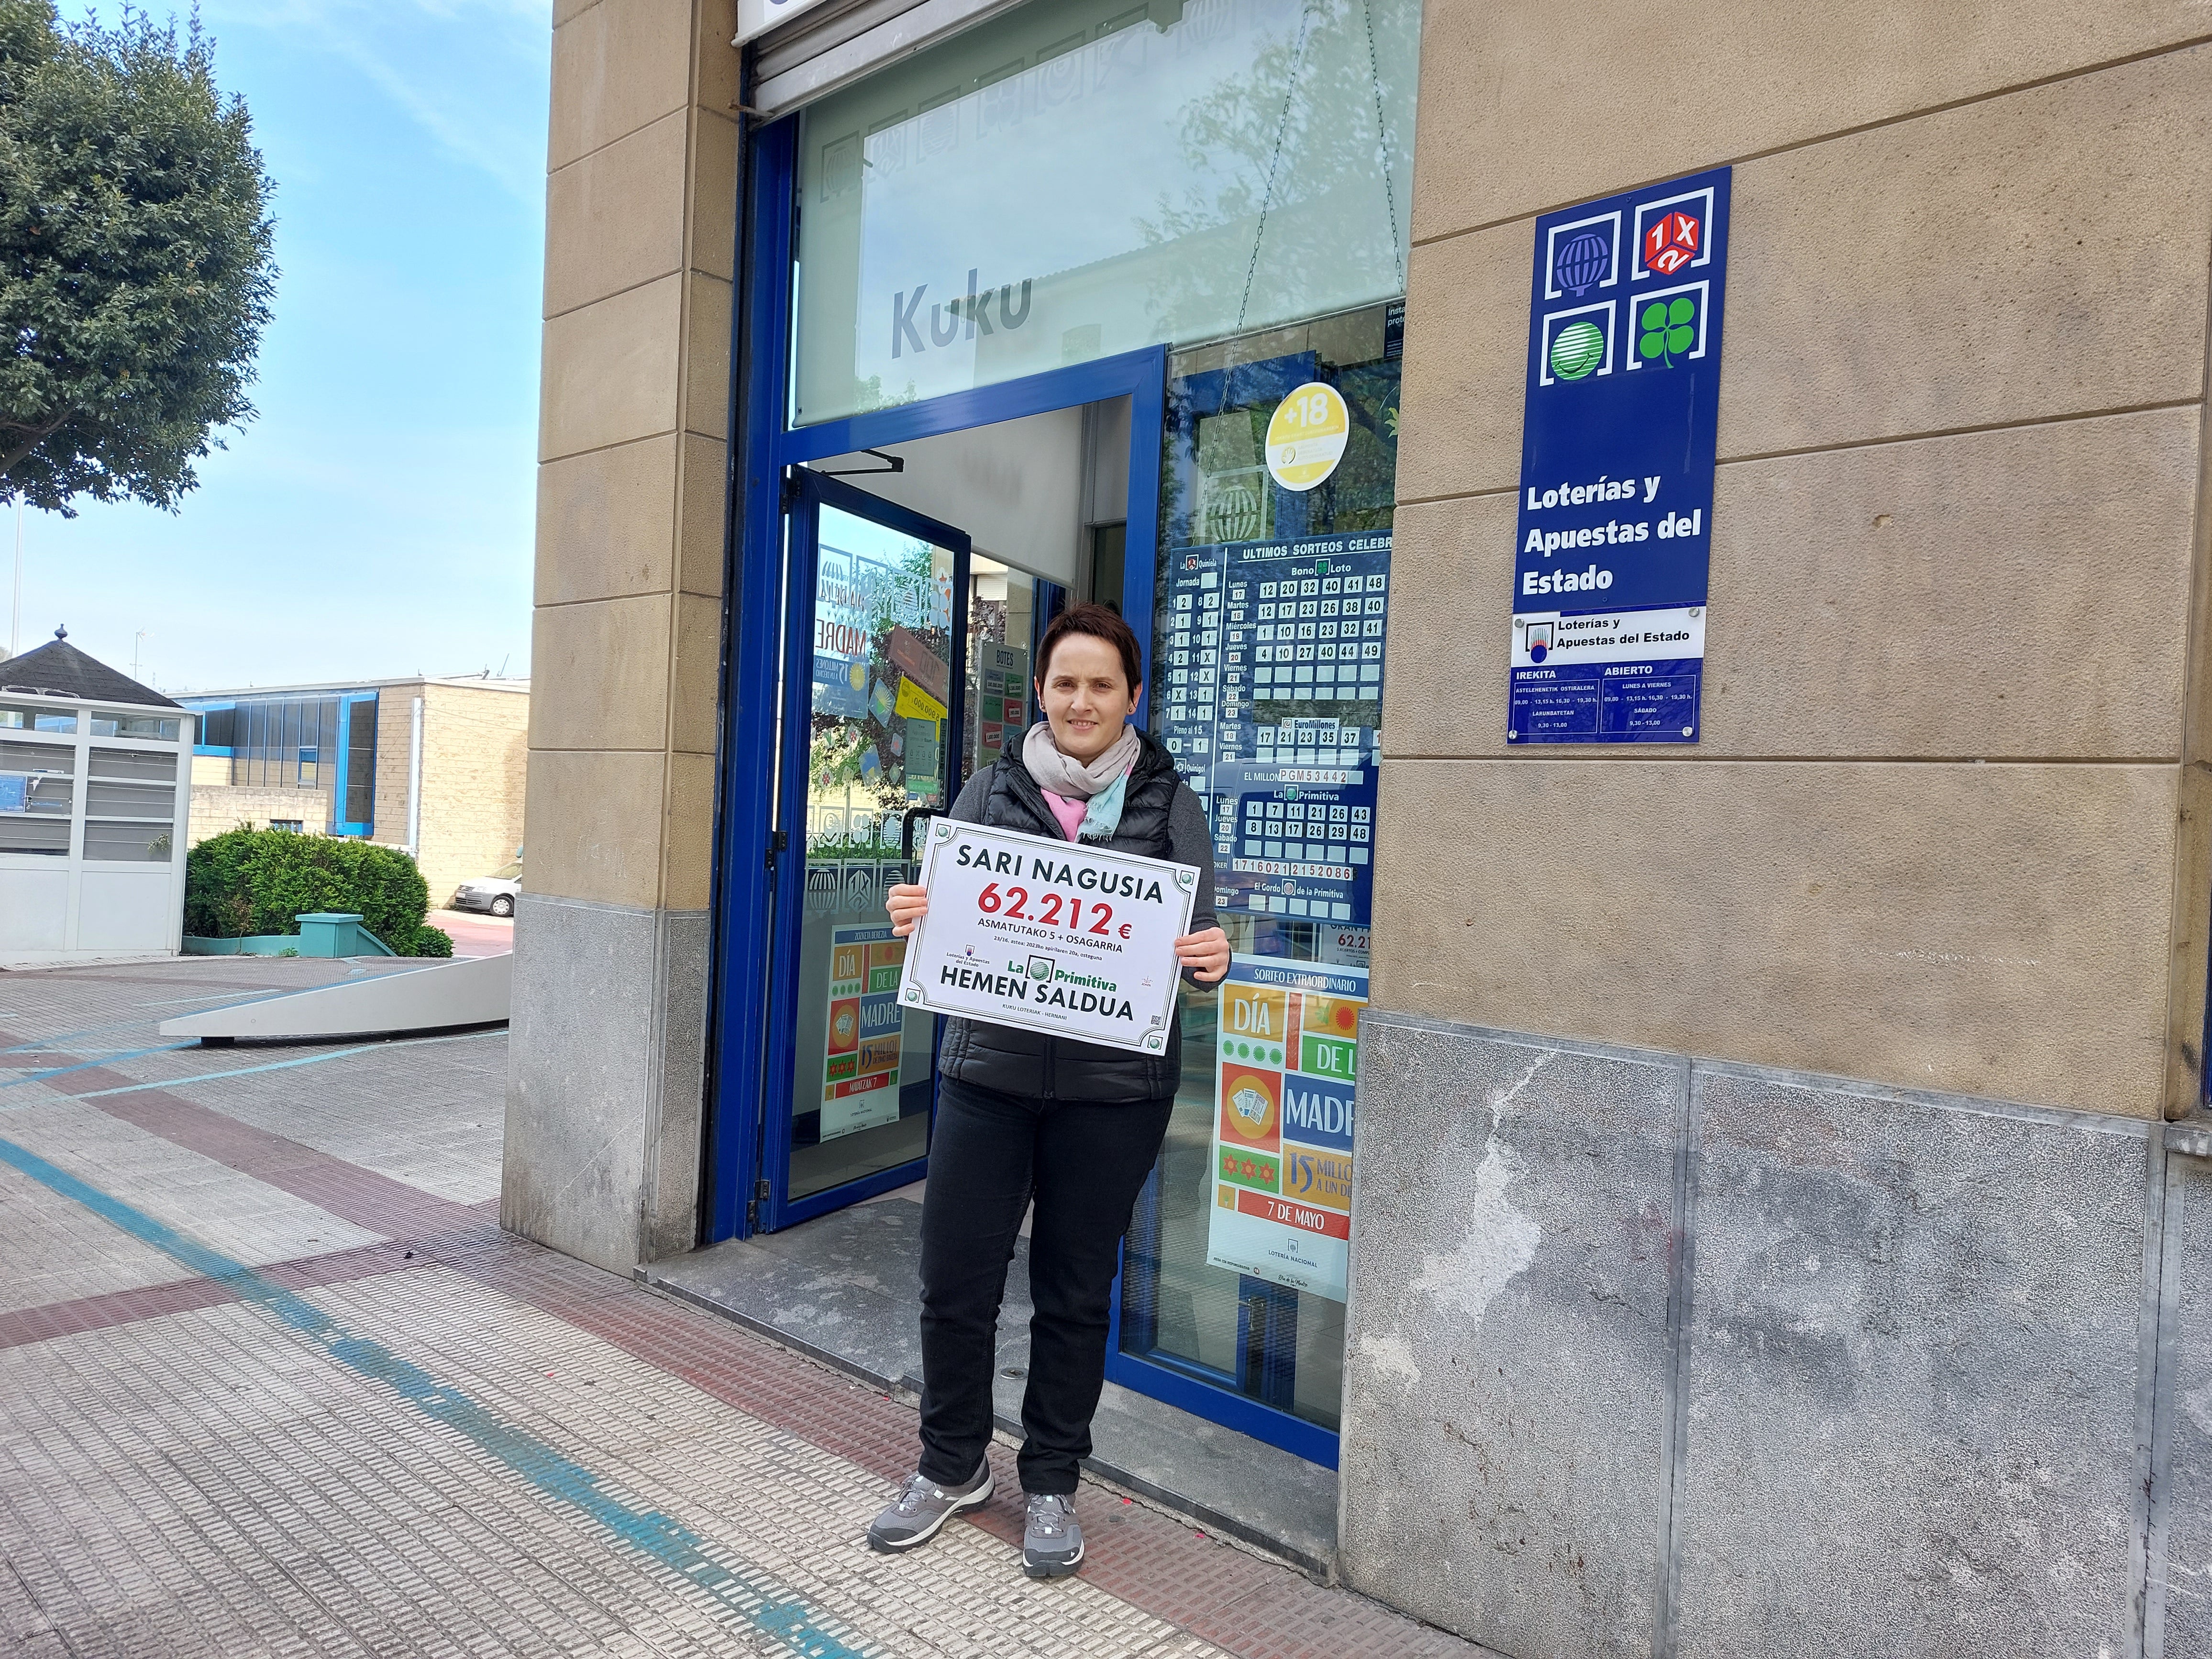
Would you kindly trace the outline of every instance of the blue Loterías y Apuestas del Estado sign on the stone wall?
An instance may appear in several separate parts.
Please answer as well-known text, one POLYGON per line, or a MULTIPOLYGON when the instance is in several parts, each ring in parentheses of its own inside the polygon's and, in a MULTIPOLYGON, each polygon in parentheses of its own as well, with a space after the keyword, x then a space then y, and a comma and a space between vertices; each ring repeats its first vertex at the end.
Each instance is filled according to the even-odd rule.
POLYGON ((1509 743, 1694 743, 1730 168, 1535 221, 1509 743))

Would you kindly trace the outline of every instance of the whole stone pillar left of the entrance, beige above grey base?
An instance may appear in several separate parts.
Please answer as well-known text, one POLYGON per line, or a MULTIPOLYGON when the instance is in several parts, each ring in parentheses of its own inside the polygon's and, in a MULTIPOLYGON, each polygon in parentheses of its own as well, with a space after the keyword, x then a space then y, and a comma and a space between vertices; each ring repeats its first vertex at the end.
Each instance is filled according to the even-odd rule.
POLYGON ((734 29, 734 0, 553 9, 518 927, 518 1009, 540 1004, 518 1029, 540 1053, 518 1060, 509 1144, 524 1155, 509 1159, 502 1219, 622 1270, 688 1248, 699 1221, 734 29), (622 1035, 577 1024, 575 995, 630 1011, 622 1035), (571 1064, 560 1042, 588 1053, 571 1064))

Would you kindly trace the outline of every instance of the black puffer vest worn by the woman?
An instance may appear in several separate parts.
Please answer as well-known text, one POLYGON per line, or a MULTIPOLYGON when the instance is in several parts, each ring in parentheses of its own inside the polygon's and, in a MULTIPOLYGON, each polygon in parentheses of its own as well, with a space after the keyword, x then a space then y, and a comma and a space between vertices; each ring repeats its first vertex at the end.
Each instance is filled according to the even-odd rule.
MULTIPOLYGON (((1150 732, 1137 737, 1144 752, 1128 776, 1121 827, 1104 845, 1146 858, 1168 858, 1168 810, 1175 805, 1181 779, 1168 750, 1150 732)), ((956 818, 1066 841, 1044 790, 1022 763, 1020 745, 1006 750, 980 783, 982 812, 962 812, 962 805, 973 807, 967 799, 953 807, 956 818)), ((1177 1015, 1168 1026, 1164 1055, 1099 1048, 1095 1042, 1046 1037, 1040 1031, 1015 1031, 982 1020, 947 1020, 938 1071, 978 1088, 1031 1099, 1159 1099, 1172 1095, 1183 1077, 1183 1020, 1177 1015)))

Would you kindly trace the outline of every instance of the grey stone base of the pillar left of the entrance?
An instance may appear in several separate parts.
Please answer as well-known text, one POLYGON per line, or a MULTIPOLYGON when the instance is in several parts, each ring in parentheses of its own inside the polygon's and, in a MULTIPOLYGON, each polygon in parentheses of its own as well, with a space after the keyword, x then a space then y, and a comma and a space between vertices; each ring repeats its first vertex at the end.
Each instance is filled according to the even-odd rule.
POLYGON ((500 1225, 622 1274, 697 1243, 706 971, 706 911, 515 900, 500 1225))

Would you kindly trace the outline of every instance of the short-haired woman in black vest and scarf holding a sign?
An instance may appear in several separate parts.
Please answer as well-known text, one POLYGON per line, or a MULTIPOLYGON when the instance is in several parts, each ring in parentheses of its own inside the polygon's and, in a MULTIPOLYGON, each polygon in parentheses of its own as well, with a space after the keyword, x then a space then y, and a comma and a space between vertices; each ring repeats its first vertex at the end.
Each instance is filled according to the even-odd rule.
MULTIPOLYGON (((1044 719, 1020 754, 969 781, 951 816, 1197 865, 1197 931, 1175 940, 1175 956, 1192 982, 1214 984, 1230 942, 1214 925, 1212 834, 1168 752, 1128 723, 1144 695, 1137 635, 1106 606, 1077 604, 1044 630, 1037 664, 1044 719)), ((887 909, 905 938, 929 894, 891 887, 887 909)), ((1084 1559, 1071 1500, 1106 1380, 1115 1256, 1168 1133, 1181 1064, 1179 1026, 1166 1055, 1139 1055, 978 1020, 947 1024, 922 1199, 922 1458, 869 1526, 874 1548, 914 1548, 991 1498, 998 1307, 1035 1197, 1022 1571, 1060 1577, 1084 1559)))

